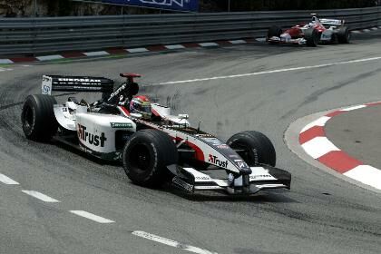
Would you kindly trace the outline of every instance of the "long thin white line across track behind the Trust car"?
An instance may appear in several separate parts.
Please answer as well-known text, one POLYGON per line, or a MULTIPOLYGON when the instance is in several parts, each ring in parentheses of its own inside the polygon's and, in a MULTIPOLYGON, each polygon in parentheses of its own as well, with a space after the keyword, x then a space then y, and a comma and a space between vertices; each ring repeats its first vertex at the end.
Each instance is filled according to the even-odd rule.
POLYGON ((163 82, 163 83, 151 83, 151 85, 174 84, 174 83, 193 83, 193 82, 202 82, 202 81, 210 81, 210 80, 220 80, 220 79, 231 79, 231 78, 239 78, 239 77, 257 76, 257 75, 270 74, 270 73, 287 73, 287 72, 295 72, 295 71, 300 71, 300 70, 318 69, 318 68, 329 67, 329 66, 336 66, 336 65, 343 65, 343 64, 357 64, 357 63, 364 63, 364 62, 372 62, 372 61, 377 61, 377 60, 381 60, 381 56, 371 57, 371 58, 362 58, 362 59, 356 59, 356 60, 350 60, 350 61, 344 61, 344 62, 337 62, 337 63, 330 63, 330 64, 318 64, 318 65, 310 65, 310 66, 300 66, 300 67, 294 67, 294 68, 278 69, 278 70, 264 71, 264 72, 258 72, 258 73, 243 73, 243 74, 234 74, 234 75, 227 75, 227 76, 216 76, 216 77, 210 77, 210 78, 199 78, 199 79, 191 79, 191 80, 170 81, 170 82, 163 82))

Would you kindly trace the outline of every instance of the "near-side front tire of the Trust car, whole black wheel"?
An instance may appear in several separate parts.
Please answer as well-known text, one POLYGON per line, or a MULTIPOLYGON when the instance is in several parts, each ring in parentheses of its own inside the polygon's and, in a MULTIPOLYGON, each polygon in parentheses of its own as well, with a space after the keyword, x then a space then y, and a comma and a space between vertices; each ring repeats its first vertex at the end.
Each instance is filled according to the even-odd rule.
POLYGON ((178 152, 167 133, 146 129, 133 133, 126 142, 122 162, 132 182, 158 188, 171 176, 166 167, 177 164, 178 152))

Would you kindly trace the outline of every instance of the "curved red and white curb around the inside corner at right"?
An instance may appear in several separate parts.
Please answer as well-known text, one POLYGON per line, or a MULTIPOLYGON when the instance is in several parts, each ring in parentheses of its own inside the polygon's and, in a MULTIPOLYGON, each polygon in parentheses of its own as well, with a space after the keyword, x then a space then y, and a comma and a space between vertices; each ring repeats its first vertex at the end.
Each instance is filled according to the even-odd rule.
POLYGON ((327 139, 324 130, 326 123, 338 114, 376 105, 381 105, 381 103, 367 103, 327 113, 314 122, 308 123, 301 130, 299 144, 309 156, 328 168, 381 190, 381 170, 366 165, 338 149, 327 139))

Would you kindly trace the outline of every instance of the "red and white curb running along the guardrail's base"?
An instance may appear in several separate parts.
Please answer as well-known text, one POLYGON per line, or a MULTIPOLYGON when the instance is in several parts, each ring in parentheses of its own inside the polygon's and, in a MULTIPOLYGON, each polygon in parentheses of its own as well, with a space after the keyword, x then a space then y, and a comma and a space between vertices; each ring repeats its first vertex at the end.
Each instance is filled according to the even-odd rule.
MULTIPOLYGON (((235 45, 235 44, 249 44, 253 42, 254 39, 244 39, 244 40, 230 40, 230 41, 217 41, 217 42, 206 42, 206 43, 190 43, 190 44, 169 44, 169 45, 152 45, 147 47, 137 47, 137 48, 115 48, 108 49, 104 51, 93 51, 93 52, 69 52, 63 54, 52 54, 43 56, 31 56, 31 57, 13 57, 0 59, 0 64, 18 64, 18 63, 37 63, 46 62, 54 60, 63 59, 73 59, 73 58, 83 58, 83 57, 99 57, 107 56, 113 54, 137 54, 137 53, 147 53, 147 52, 161 52, 169 50, 187 49, 187 48, 208 48, 217 47, 225 45, 235 45)), ((2 69, 0 69, 0 72, 2 69)))

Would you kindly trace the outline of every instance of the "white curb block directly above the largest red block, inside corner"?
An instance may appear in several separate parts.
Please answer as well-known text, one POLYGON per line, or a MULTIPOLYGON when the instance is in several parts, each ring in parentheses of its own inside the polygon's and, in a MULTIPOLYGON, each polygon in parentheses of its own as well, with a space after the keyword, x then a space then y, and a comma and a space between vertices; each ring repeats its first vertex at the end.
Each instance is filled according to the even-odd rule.
POLYGON ((309 142, 301 145, 309 156, 318 159, 329 151, 340 151, 336 145, 330 142, 326 137, 316 137, 309 142))

